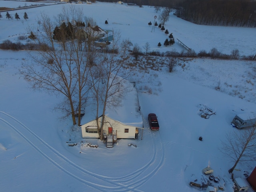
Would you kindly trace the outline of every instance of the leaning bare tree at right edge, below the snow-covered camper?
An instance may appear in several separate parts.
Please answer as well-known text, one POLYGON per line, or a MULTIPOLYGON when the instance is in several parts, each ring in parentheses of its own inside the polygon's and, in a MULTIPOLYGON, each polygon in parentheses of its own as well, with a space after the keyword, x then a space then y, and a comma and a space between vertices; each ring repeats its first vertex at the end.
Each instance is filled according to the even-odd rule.
POLYGON ((234 171, 238 162, 248 163, 256 159, 256 126, 245 130, 234 130, 226 135, 226 140, 222 141, 220 151, 230 158, 234 166, 228 170, 234 171))

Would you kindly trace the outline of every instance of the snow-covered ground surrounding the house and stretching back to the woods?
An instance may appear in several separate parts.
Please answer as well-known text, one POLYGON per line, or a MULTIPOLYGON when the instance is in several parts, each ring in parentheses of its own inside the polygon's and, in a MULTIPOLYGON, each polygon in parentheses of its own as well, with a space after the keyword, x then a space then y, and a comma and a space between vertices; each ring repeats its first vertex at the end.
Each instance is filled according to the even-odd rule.
MULTIPOLYGON (((21 3, 24 2, 0 0, 1 7, 16 8, 21 3)), ((10 11, 12 16, 16 12, 20 15, 18 21, 6 19, 5 12, 1 12, 0 42, 17 41, 18 36, 27 34, 29 26, 39 28, 37 18, 41 13, 57 16, 62 6, 82 7, 84 14, 94 18, 100 27, 120 30, 122 38, 130 38, 141 47, 149 42, 151 50, 183 49, 177 43, 157 47, 167 36, 148 26, 159 14, 154 8, 108 3, 10 11), (24 12, 28 14, 27 21, 23 19, 24 12)), ((255 28, 200 26, 173 15, 165 28, 196 52, 208 52, 214 47, 226 54, 234 49, 241 55, 256 52, 255 28)), ((196 192, 198 189, 190 187, 189 182, 205 182, 202 169, 208 164, 214 169, 213 175, 220 178, 219 184, 225 182, 226 191, 233 191, 228 174, 233 163, 218 148, 227 132, 240 131, 230 125, 235 114, 256 108, 255 62, 186 59, 180 61, 173 73, 168 73, 167 67, 158 71, 148 69, 149 73, 137 71, 131 80, 137 82, 138 88, 150 86, 153 93, 140 90, 138 93, 144 118, 143 140, 118 140, 109 149, 100 140, 82 139, 80 129, 73 127, 71 120, 58 119, 61 114, 52 110, 58 102, 56 96, 28 88, 18 73, 21 62, 26 60, 25 51, 0 50, 2 191, 196 192), (216 86, 220 86, 218 91, 216 86), (209 119, 201 118, 202 106, 216 114, 209 119), (157 114, 160 124, 156 132, 148 128, 147 115, 152 112, 157 114), (77 146, 69 147, 66 143, 69 140, 77 142, 77 146), (85 147, 88 142, 99 147, 85 147), (137 147, 128 146, 130 143, 137 147)), ((255 165, 256 162, 249 167, 238 164, 234 176, 250 173, 255 165)))

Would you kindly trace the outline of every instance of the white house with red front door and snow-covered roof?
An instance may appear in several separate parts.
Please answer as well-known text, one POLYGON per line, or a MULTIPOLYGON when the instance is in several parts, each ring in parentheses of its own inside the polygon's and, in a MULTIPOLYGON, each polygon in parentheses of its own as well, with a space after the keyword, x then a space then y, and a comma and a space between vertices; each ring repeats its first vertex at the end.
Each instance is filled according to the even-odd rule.
MULTIPOLYGON (((143 130, 142 116, 135 82, 129 84, 128 91, 122 98, 121 106, 108 108, 105 112, 103 134, 116 135, 116 138, 134 139, 139 130, 143 130)), ((97 130, 95 106, 91 104, 85 108, 85 115, 81 120, 82 138, 100 138, 97 130)), ((99 124, 102 123, 102 116, 99 117, 99 124)), ((142 131, 140 131, 142 132, 142 131)))

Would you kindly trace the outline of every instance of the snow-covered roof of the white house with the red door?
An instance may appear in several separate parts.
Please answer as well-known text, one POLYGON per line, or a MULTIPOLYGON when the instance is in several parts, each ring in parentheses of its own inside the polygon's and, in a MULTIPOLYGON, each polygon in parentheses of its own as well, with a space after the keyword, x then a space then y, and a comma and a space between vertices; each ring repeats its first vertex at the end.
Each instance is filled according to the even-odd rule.
MULTIPOLYGON (((105 115, 121 122, 125 125, 143 127, 142 116, 140 114, 140 104, 138 101, 138 94, 135 82, 126 82, 128 91, 125 92, 122 98, 121 106, 114 108, 107 108, 105 115)), ((100 110, 100 112, 102 112, 100 110)), ((101 116, 99 114, 98 116, 101 116)), ((81 124, 86 124, 94 120, 96 117, 96 105, 90 104, 85 108, 85 115, 81 120, 81 124)))

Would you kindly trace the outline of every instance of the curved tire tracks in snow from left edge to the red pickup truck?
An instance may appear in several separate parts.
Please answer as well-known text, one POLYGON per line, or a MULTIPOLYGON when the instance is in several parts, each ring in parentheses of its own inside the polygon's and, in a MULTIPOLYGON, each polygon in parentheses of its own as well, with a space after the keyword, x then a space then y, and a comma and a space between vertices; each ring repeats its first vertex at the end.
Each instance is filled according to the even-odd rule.
POLYGON ((30 130, 16 118, 6 114, 5 112, 0 111, 0 114, 4 115, 5 117, 0 118, 2 122, 4 122, 6 125, 12 128, 12 130, 17 132, 35 150, 37 150, 42 156, 44 156, 46 159, 52 162, 52 164, 60 168, 60 170, 64 171, 66 174, 79 180, 80 182, 100 191, 121 192, 133 190, 139 192, 140 190, 136 188, 138 186, 141 186, 149 178, 154 176, 164 162, 164 146, 162 145, 161 140, 157 140, 157 138, 160 138, 160 134, 159 132, 157 132, 156 136, 156 134, 150 132, 153 140, 153 155, 147 164, 126 176, 116 178, 96 174, 78 166, 77 164, 66 158, 64 155, 60 154, 60 152, 58 152, 56 149, 54 149, 52 146, 50 146, 48 143, 42 140, 38 135, 32 132, 32 130, 30 130), (6 117, 12 121, 12 124, 5 120, 6 117), (17 127, 22 128, 22 130, 16 128, 16 126, 13 125, 13 122, 14 124, 17 124, 17 127), (24 132, 24 130, 27 132, 24 132))

